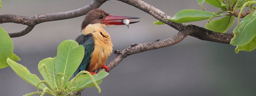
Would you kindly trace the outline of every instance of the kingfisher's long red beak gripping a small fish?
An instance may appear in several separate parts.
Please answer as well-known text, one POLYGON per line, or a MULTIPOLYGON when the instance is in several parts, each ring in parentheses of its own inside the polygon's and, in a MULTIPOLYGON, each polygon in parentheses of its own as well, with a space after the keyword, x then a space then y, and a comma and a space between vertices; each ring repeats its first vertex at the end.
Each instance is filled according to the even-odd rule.
MULTIPOLYGON (((129 17, 129 16, 118 16, 118 15, 109 15, 106 19, 101 20, 101 22, 105 22, 105 25, 125 25, 122 21, 114 21, 114 20, 123 20, 123 19, 139 19, 139 17, 129 17)), ((132 21, 132 23, 137 23, 140 21, 132 21)))

